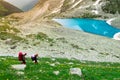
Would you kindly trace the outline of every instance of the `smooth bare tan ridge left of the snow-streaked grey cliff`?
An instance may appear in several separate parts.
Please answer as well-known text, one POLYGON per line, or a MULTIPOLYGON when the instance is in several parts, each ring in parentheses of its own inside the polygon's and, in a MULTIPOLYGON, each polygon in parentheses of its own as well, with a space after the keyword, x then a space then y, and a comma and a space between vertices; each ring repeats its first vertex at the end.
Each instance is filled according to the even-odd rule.
MULTIPOLYGON (((64 0, 40 0, 38 4, 30 11, 12 14, 10 17, 22 18, 21 22, 43 19, 45 16, 52 14, 52 11, 59 10, 64 0)), ((56 12, 55 12, 56 13, 56 12)))

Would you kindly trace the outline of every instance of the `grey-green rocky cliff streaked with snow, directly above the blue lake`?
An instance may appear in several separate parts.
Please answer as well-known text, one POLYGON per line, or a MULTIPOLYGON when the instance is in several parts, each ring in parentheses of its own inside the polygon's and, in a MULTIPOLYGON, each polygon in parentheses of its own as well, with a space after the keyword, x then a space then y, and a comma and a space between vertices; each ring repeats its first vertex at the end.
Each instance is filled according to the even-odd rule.
POLYGON ((65 0, 61 8, 64 16, 105 19, 114 17, 117 12, 119 13, 120 1, 118 0, 73 0, 68 2, 69 0, 65 0))

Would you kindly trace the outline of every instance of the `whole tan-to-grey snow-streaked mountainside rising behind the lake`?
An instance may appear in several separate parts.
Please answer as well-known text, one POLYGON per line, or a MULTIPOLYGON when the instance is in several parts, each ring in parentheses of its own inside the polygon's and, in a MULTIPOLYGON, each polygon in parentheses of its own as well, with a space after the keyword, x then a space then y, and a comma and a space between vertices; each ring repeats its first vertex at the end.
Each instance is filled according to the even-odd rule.
POLYGON ((30 11, 12 16, 22 17, 23 22, 53 17, 109 19, 119 15, 119 3, 118 0, 40 0, 30 11))

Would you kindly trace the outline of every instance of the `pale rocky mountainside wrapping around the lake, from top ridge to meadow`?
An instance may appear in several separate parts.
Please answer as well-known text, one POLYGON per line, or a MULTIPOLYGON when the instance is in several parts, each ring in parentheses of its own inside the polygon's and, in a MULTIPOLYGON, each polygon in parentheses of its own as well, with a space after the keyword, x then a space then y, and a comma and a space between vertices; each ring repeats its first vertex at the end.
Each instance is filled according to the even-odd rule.
POLYGON ((13 16, 20 20, 17 24, 10 21, 8 25, 12 26, 1 31, 9 34, 9 37, 3 38, 5 35, 1 33, 1 53, 14 53, 15 56, 22 50, 28 55, 39 53, 40 57, 120 62, 119 41, 64 28, 52 20, 71 17, 110 19, 119 16, 117 10, 111 13, 102 9, 109 1, 40 0, 30 11, 8 16, 10 20, 13 16))

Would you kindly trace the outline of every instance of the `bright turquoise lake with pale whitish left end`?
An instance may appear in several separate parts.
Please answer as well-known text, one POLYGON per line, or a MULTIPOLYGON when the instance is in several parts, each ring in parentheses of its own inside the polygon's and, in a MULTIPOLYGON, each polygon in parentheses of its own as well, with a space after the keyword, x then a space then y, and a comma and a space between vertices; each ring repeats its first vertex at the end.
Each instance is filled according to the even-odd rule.
POLYGON ((54 19, 56 22, 60 23, 64 27, 82 30, 84 32, 93 33, 109 38, 113 38, 115 33, 120 32, 117 29, 103 20, 94 19, 81 19, 81 18, 71 18, 71 19, 54 19))

